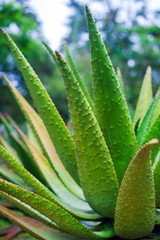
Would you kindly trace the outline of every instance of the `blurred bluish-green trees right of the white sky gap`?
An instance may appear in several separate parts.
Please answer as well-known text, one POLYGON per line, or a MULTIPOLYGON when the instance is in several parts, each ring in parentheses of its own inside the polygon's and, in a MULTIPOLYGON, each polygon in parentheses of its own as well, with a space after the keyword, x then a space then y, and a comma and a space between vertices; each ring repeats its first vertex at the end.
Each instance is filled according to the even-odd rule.
MULTIPOLYGON (((160 83, 159 10, 151 10, 149 0, 88 0, 106 48, 115 68, 119 66, 127 84, 127 97, 135 106, 137 94, 148 65, 153 69, 153 83, 160 83)), ((88 33, 84 2, 69 0, 73 13, 68 19, 70 29, 65 41, 75 58, 88 54, 88 33)), ((78 60, 80 60, 78 58, 78 60)), ((77 61, 78 62, 78 61, 77 61)), ((88 71, 86 67, 83 73, 88 71)), ((154 89, 155 89, 154 88, 154 89)))

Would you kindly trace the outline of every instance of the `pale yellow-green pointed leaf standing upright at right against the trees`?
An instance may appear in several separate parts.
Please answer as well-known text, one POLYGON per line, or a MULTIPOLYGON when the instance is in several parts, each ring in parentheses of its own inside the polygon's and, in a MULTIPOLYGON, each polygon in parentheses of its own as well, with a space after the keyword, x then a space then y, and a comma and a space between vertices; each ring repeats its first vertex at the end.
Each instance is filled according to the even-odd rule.
POLYGON ((133 124, 135 125, 138 119, 140 119, 140 123, 147 113, 147 110, 153 100, 153 92, 152 92, 152 79, 151 79, 151 67, 148 66, 142 87, 140 90, 139 98, 137 101, 137 106, 135 110, 133 124))

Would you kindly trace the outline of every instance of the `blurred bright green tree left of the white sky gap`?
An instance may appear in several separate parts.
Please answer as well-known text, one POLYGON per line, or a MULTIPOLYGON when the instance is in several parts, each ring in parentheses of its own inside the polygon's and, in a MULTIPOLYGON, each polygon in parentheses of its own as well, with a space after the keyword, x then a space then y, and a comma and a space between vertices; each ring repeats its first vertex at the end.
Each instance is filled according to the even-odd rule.
MULTIPOLYGON (((27 1, 1 0, 0 24, 19 46, 43 83, 47 85, 53 75, 54 65, 41 43, 44 37, 40 32, 40 22, 33 10, 27 6, 27 1)), ((0 49, 0 71, 7 75, 22 94, 29 99, 17 64, 2 38, 0 38, 0 49)), ((17 120, 21 120, 21 114, 17 114, 19 109, 16 103, 13 103, 12 95, 2 79, 0 81, 0 111, 8 112, 12 116, 16 116, 17 120), (10 106, 11 103, 12 106, 10 106)))

